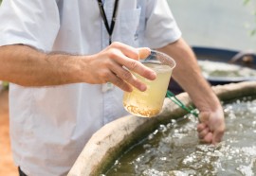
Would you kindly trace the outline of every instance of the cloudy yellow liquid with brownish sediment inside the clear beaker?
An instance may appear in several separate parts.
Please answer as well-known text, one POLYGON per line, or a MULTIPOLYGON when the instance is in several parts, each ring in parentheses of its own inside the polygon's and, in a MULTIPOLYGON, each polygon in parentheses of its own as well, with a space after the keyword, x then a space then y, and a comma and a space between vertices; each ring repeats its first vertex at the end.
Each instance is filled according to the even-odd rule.
POLYGON ((131 114, 150 117, 159 114, 162 109, 173 69, 168 65, 159 63, 148 62, 143 64, 155 71, 156 79, 145 79, 133 73, 147 85, 147 90, 145 92, 140 92, 134 88, 131 93, 125 92, 123 106, 125 110, 131 114))

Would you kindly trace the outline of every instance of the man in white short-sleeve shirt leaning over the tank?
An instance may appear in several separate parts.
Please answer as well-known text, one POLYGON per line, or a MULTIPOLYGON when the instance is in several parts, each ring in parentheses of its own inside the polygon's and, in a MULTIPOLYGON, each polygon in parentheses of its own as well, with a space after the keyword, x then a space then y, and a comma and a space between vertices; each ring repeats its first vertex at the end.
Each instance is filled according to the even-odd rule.
POLYGON ((97 0, 3 1, 0 79, 13 82, 11 147, 15 164, 25 174, 65 175, 93 132, 127 114, 123 91, 132 91, 129 84, 140 91, 146 86, 123 66, 155 79, 152 70, 137 62, 139 52, 149 52, 138 52, 142 46, 175 59, 174 79, 200 111, 198 136, 213 144, 221 140, 222 107, 181 38, 167 2, 117 1, 106 0, 103 10, 97 0))

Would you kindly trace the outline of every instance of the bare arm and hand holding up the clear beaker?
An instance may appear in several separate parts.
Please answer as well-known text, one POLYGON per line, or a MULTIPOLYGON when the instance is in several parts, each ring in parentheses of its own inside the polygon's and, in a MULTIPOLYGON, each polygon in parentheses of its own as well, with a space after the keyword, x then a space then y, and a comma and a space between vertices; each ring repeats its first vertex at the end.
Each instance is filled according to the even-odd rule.
POLYGON ((149 54, 149 48, 137 49, 120 43, 90 56, 46 54, 23 44, 6 45, 0 47, 0 79, 22 86, 112 82, 123 91, 131 92, 131 85, 145 91, 146 85, 124 67, 155 79, 155 72, 138 62, 149 54))

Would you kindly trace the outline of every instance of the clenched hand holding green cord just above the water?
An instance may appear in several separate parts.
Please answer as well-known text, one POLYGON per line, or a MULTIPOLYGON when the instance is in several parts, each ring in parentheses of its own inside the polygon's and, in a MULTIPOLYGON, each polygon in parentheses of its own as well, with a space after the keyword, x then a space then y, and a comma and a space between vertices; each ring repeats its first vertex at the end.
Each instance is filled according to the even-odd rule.
POLYGON ((225 118, 222 110, 202 112, 199 114, 200 123, 197 125, 199 139, 213 145, 219 143, 225 132, 225 118))

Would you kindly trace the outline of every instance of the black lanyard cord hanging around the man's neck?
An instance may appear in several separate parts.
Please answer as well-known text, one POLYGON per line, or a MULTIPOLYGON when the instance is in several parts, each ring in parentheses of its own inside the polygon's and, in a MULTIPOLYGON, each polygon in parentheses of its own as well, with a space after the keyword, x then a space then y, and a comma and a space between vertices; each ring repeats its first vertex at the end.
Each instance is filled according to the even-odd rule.
POLYGON ((111 20, 111 25, 108 25, 107 22, 107 18, 106 18, 106 13, 105 10, 103 8, 103 3, 101 0, 98 0, 98 4, 99 4, 99 8, 101 11, 101 18, 104 22, 104 25, 106 27, 107 33, 109 35, 109 44, 112 43, 112 34, 113 34, 113 30, 114 30, 114 26, 116 24, 116 19, 117 19, 117 11, 118 11, 118 7, 119 7, 119 0, 115 1, 115 7, 114 7, 114 11, 113 11, 113 15, 112 15, 112 20, 111 20))

